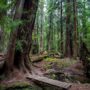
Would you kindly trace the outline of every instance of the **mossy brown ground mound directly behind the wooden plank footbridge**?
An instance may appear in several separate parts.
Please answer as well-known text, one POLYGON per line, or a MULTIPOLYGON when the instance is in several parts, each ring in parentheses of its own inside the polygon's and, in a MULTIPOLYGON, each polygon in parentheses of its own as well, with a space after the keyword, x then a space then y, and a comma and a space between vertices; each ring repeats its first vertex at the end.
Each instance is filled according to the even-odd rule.
POLYGON ((34 62, 36 74, 73 83, 85 83, 87 80, 84 74, 84 67, 80 61, 71 61, 68 58, 48 59, 50 60, 34 62))

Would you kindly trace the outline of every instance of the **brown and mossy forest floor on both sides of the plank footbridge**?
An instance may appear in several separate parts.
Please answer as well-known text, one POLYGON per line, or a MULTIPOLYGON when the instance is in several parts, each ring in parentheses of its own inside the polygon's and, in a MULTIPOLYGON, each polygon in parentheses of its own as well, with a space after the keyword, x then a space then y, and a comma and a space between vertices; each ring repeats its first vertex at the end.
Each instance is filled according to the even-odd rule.
MULTIPOLYGON (((84 67, 81 61, 46 56, 47 55, 44 55, 43 58, 42 55, 40 55, 40 60, 38 61, 35 60, 35 58, 38 58, 38 55, 32 56, 32 61, 34 60, 32 74, 72 83, 73 85, 70 90, 90 90, 89 80, 84 74, 84 67)), ((28 81, 25 79, 26 75, 19 73, 17 70, 13 75, 13 79, 6 79, 2 84, 12 86, 12 84, 16 82, 25 82, 26 85, 28 85, 28 81), (16 77, 17 75, 15 75, 15 73, 19 74, 18 77, 16 77)), ((29 83, 32 84, 32 82, 29 83)))

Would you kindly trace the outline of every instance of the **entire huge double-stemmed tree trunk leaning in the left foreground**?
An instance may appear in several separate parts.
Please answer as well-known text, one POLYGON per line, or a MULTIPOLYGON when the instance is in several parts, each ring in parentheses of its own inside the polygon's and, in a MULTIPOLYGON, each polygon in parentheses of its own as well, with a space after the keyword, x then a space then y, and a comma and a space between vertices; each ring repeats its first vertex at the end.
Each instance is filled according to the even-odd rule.
POLYGON ((8 47, 8 60, 6 61, 7 72, 13 71, 13 67, 27 72, 30 70, 29 52, 32 44, 32 31, 38 7, 38 0, 20 0, 18 1, 14 20, 20 19, 23 25, 17 27, 11 33, 11 39, 8 47), (23 11, 23 13, 22 13, 23 11), (17 48, 20 43, 19 49, 17 48))

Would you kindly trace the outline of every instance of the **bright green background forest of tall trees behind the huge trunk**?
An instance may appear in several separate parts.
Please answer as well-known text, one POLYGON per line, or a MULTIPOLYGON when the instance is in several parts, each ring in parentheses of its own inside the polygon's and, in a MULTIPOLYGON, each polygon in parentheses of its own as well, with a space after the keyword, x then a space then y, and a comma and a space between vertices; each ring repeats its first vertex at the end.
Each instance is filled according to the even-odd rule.
MULTIPOLYGON (((76 57, 79 55, 81 39, 89 49, 89 3, 89 0, 40 1, 32 35, 33 44, 37 45, 36 53, 58 51, 65 56, 76 57)), ((22 20, 12 20, 14 4, 14 1, 9 0, 3 1, 0 5, 1 36, 3 38, 0 50, 3 52, 7 50, 11 30, 17 25, 23 24, 22 20)), ((17 49, 21 49, 20 41, 17 41, 17 49)))

